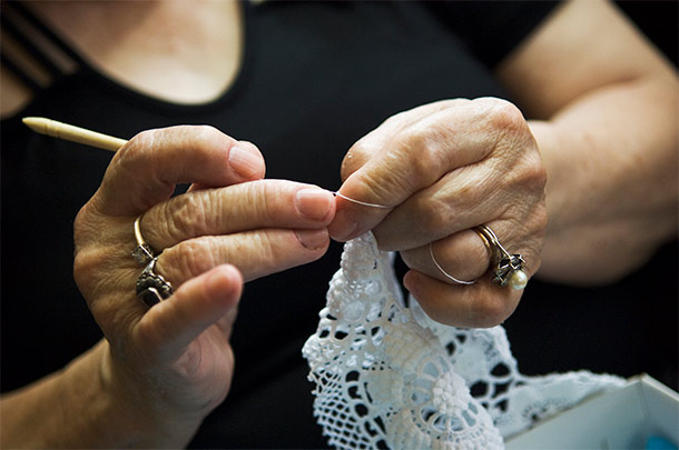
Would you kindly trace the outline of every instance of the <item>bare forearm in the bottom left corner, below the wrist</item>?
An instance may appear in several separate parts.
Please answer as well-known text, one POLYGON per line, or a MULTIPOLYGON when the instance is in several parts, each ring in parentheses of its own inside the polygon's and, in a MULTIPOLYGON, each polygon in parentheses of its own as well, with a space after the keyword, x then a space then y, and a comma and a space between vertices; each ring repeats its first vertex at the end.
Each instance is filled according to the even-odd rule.
MULTIPOLYGON (((149 441, 137 410, 107 381, 108 342, 2 396, 2 447, 126 448, 149 441)), ((178 441, 175 441, 178 442, 178 441)), ((166 444, 175 443, 166 441, 166 444)))

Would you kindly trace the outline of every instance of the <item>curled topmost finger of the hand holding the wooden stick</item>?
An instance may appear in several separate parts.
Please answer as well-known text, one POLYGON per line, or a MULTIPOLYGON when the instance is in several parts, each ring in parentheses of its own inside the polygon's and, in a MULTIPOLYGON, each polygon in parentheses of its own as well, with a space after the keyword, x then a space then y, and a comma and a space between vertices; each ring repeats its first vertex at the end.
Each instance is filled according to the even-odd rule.
POLYGON ((148 130, 118 150, 92 201, 114 216, 137 216, 167 200, 176 184, 225 187, 260 179, 264 171, 255 146, 213 127, 148 130))

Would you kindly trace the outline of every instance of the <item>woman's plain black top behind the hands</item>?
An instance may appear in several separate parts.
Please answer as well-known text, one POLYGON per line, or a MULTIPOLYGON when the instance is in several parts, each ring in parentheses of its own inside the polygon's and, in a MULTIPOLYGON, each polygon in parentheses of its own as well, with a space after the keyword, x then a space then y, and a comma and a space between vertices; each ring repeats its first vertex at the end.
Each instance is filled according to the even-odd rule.
MULTIPOLYGON (((511 9, 509 4, 501 9, 511 9)), ((111 154, 32 133, 20 117, 45 116, 122 138, 148 128, 209 123, 255 142, 266 158, 268 178, 336 189, 345 151, 387 117, 445 98, 508 97, 486 68, 503 56, 485 56, 481 62, 471 53, 472 37, 468 32, 459 37, 439 7, 360 1, 265 2, 252 8, 244 3, 244 64, 235 84, 214 102, 169 104, 83 67, 38 93, 20 114, 2 121, 2 391, 59 369, 100 339, 72 281, 71 236, 73 218, 98 188, 111 154)), ((513 23, 500 36, 485 29, 488 46, 521 41, 547 13, 543 6, 537 8, 540 14, 519 14, 521 24, 513 23), (512 29, 522 31, 510 38, 512 29)), ((340 252, 341 246, 334 243, 315 263, 245 287, 233 334, 232 392, 206 419, 193 447, 325 447, 312 417, 312 386, 301 349, 315 331, 340 252)), ((675 283, 670 284, 659 280, 657 289, 676 294, 675 283)), ((521 367, 540 373, 555 367, 657 373, 652 367, 661 362, 650 361, 644 349, 652 342, 659 360, 667 360, 667 337, 647 334, 644 330, 653 328, 658 318, 647 319, 639 310, 655 311, 658 300, 637 301, 644 291, 634 289, 641 290, 613 288, 597 294, 597 290, 563 291, 531 283, 523 303, 537 312, 523 317, 522 306, 516 320, 506 323, 520 337, 514 348, 521 367), (573 294, 578 299, 570 301, 573 294), (596 297, 623 307, 606 303, 614 316, 603 320, 591 312, 599 308, 590 304, 596 297), (598 327, 578 327, 588 317, 598 327), (621 349, 612 341, 620 327, 638 338, 636 347, 621 349), (568 339, 573 332, 587 348, 577 356, 568 339), (602 341, 600 334, 611 340, 602 341), (548 341, 550 346, 543 347, 548 341)))

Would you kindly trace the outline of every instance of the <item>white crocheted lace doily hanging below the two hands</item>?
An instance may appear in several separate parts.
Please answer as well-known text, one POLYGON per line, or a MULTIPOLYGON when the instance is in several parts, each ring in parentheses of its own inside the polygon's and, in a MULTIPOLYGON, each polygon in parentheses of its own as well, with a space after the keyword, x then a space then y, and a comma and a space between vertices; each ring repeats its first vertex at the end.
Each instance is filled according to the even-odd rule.
POLYGON ((503 448, 503 437, 623 383, 584 371, 524 377, 502 327, 446 327, 409 304, 371 233, 345 244, 303 348, 331 446, 503 448))

